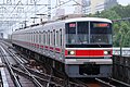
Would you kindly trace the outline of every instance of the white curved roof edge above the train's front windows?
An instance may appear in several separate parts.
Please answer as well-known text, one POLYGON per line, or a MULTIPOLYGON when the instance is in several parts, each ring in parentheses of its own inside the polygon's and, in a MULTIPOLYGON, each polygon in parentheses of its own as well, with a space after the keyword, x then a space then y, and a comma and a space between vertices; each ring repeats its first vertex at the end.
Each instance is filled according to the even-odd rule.
POLYGON ((69 22, 83 22, 83 21, 94 21, 94 22, 108 22, 112 23, 108 18, 101 18, 101 17, 77 17, 77 18, 69 18, 66 20, 65 23, 69 22))

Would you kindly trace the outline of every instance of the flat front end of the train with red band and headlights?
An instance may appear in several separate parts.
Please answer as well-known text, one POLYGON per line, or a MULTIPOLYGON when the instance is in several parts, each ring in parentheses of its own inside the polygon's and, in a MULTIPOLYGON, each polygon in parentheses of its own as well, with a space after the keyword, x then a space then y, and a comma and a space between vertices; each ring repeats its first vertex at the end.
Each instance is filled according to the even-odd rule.
POLYGON ((112 73, 112 21, 66 21, 65 71, 69 77, 108 77, 112 73))

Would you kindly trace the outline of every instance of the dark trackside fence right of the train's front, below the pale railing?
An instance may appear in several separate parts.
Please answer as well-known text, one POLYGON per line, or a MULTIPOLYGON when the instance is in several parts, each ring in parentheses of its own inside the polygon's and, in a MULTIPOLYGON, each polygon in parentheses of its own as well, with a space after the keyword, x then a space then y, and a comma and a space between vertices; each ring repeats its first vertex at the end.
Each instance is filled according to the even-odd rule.
POLYGON ((130 84, 130 57, 113 57, 113 77, 130 84))

